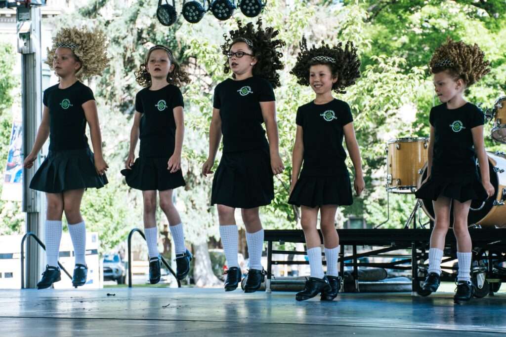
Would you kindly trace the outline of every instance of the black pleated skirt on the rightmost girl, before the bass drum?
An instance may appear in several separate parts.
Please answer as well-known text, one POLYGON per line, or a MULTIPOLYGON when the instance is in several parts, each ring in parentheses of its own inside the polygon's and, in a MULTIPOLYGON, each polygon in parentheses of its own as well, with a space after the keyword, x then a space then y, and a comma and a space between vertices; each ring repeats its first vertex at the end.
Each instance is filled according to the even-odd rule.
POLYGON ((468 175, 431 175, 415 192, 415 197, 418 199, 437 200, 439 196, 458 200, 461 203, 468 200, 484 201, 488 197, 478 174, 472 172, 468 175))

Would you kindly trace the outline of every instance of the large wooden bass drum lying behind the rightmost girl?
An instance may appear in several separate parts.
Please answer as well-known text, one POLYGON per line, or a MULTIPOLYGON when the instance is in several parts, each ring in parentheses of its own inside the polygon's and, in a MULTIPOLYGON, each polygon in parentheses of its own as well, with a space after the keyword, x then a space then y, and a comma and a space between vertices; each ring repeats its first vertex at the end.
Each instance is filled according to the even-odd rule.
MULTIPOLYGON (((506 228, 506 155, 503 152, 487 152, 490 182, 494 186, 495 194, 486 202, 473 201, 469 210, 468 223, 482 226, 496 226, 506 228)), ((427 163, 421 169, 418 187, 427 177, 427 163)), ((480 172, 480 170, 478 170, 480 172)), ((421 199, 424 212, 434 221, 432 200, 421 199)), ((453 223, 453 211, 450 212, 450 223, 453 223)))

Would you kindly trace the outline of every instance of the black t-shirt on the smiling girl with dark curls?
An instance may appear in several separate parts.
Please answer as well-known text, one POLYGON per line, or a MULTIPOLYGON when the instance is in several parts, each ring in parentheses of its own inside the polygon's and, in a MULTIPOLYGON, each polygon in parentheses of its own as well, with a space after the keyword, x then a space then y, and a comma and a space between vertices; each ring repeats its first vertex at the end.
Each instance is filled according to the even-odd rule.
POLYGON ((353 122, 348 103, 336 99, 326 104, 307 103, 297 110, 296 122, 303 129, 304 166, 301 175, 347 172, 343 126, 353 122))

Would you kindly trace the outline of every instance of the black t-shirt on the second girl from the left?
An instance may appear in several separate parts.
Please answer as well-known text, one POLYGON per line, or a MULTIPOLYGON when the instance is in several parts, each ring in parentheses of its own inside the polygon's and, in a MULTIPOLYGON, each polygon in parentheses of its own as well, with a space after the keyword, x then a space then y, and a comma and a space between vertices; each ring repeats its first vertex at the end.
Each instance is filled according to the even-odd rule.
POLYGON ((181 90, 168 84, 158 90, 144 88, 135 97, 135 110, 142 114, 139 156, 170 157, 176 144, 174 108, 184 107, 181 90))

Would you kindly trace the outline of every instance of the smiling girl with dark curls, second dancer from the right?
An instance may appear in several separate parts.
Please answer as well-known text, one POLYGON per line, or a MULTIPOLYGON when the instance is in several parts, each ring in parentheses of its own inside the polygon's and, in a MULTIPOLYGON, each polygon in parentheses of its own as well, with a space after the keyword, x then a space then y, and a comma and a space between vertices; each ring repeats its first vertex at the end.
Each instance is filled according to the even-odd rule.
POLYGON ((297 110, 297 133, 292 157, 289 204, 301 206, 301 225, 306 237, 311 277, 296 300, 304 301, 321 293, 322 301, 332 301, 339 292, 339 236, 335 230, 338 206, 351 205, 350 175, 345 164, 343 137, 355 168, 355 192, 360 196, 365 183, 350 106, 332 97, 332 91, 345 93, 360 77, 360 61, 353 43, 308 49, 306 39, 291 74, 301 85, 310 85, 315 99, 297 110), (301 166, 304 167, 301 171, 301 166), (300 174, 299 174, 300 173, 300 174), (321 242, 316 223, 320 211, 327 275, 323 273, 321 242))

